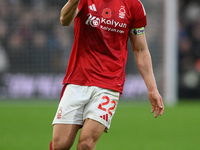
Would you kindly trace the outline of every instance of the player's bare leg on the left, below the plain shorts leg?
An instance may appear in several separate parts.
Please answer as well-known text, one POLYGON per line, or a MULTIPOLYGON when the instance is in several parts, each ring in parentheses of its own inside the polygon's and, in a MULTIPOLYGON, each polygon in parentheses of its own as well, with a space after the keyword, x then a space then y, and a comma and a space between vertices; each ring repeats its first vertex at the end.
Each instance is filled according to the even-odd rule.
POLYGON ((81 125, 76 124, 55 124, 53 126, 53 148, 70 149, 80 128, 81 125))

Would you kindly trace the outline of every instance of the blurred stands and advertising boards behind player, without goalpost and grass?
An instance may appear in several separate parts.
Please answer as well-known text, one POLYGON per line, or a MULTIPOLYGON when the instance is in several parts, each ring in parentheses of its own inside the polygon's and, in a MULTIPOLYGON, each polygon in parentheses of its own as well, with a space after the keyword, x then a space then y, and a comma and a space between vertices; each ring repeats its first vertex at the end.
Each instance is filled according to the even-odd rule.
MULTIPOLYGON (((65 1, 0 0, 0 98, 55 99, 60 95, 73 43, 73 24, 62 27, 65 1)), ((143 0, 147 11, 146 35, 154 72, 164 94, 164 3, 143 0)), ((179 1, 178 98, 200 97, 200 4, 179 1)), ((173 28, 173 27, 172 27, 173 28)), ((123 99, 146 99, 147 89, 138 72, 129 43, 123 99)))

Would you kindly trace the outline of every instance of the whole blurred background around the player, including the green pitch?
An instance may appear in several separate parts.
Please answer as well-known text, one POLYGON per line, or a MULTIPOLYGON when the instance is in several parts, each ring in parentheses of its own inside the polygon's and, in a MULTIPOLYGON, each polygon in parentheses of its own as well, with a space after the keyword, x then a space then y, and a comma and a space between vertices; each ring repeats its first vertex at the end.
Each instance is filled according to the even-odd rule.
MULTIPOLYGON (((176 1, 178 39, 175 63, 170 67, 177 69, 166 75, 165 66, 170 60, 165 61, 165 34, 173 36, 170 29, 175 28, 172 25, 165 31, 164 10, 169 1, 176 0, 142 0, 159 91, 166 95, 166 76, 174 74, 176 84, 170 86, 175 89, 177 103, 174 107, 166 105, 163 116, 153 118, 147 88, 128 43, 121 103, 109 136, 103 135, 97 150, 196 150, 200 147, 200 1, 176 1)), ((51 122, 74 38, 73 24, 62 27, 59 22, 60 10, 66 2, 0 0, 0 149, 48 149, 51 122)), ((168 12, 173 6, 169 7, 168 12)), ((168 22, 172 23, 170 19, 168 22)))

